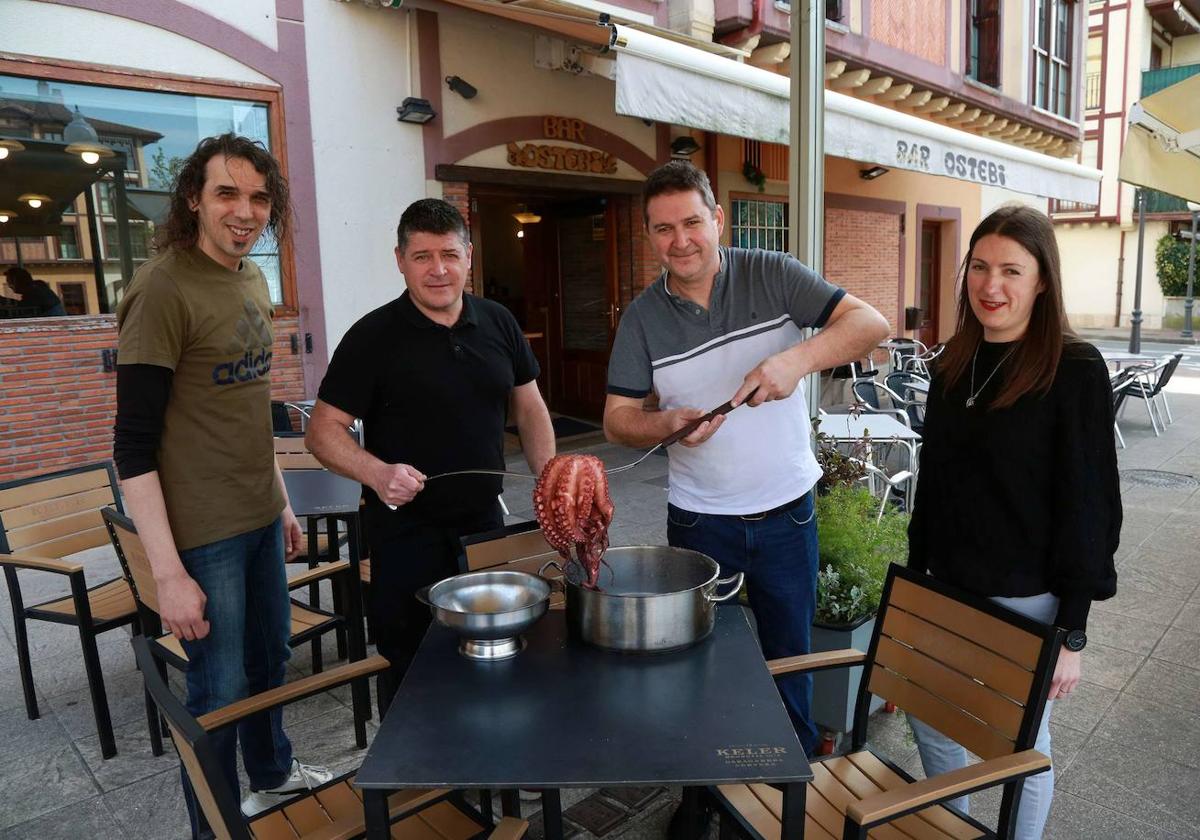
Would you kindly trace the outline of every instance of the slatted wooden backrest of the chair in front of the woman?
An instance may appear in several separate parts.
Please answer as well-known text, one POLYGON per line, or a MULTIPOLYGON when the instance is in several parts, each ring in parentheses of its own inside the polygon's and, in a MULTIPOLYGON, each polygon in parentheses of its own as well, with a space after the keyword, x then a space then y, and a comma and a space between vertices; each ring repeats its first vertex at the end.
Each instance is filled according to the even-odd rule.
POLYGON ((893 565, 854 709, 854 748, 869 694, 982 758, 1031 749, 1062 630, 893 565))

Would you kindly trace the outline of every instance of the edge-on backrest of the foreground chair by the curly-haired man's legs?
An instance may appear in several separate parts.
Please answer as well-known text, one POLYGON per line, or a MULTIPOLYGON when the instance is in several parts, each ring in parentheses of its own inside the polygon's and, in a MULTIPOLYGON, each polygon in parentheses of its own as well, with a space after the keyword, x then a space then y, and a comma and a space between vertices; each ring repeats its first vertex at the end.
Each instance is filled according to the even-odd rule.
POLYGON ((179 760, 192 782, 196 800, 221 840, 251 840, 242 821, 241 808, 221 769, 221 761, 212 749, 212 739, 204 727, 184 708, 162 678, 155 654, 144 636, 133 637, 133 655, 138 660, 142 679, 155 706, 167 719, 172 742, 179 760))

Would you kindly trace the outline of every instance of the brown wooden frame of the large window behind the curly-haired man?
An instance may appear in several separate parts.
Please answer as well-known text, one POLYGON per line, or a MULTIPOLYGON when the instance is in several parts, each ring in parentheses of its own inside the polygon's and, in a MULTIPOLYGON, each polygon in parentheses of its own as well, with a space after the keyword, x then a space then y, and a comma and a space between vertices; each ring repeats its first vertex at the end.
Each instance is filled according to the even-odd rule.
MULTIPOLYGON (((148 70, 114 67, 67 59, 44 59, 29 55, 0 56, 0 74, 24 76, 49 82, 103 85, 126 90, 144 90, 158 94, 182 94, 211 96, 223 100, 244 100, 266 106, 266 125, 271 140, 271 154, 280 162, 283 176, 288 176, 288 144, 284 128, 283 91, 272 85, 251 82, 214 82, 196 76, 161 73, 148 70)), ((100 208, 96 208, 97 214, 100 208)), ((299 316, 296 298, 295 250, 290 239, 280 244, 280 287, 282 304, 275 305, 278 317, 299 316)))

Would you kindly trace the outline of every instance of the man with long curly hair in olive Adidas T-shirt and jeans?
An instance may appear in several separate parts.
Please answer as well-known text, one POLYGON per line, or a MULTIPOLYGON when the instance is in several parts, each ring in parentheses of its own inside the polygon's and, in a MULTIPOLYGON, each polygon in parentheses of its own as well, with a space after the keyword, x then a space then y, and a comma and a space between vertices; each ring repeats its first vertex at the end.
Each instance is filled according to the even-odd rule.
MULTIPOLYGON (((114 460, 187 653, 187 708, 202 715, 283 683, 290 655, 284 557, 302 533, 275 463, 271 301, 251 248, 288 233, 288 186, 262 145, 200 142, 175 181, 158 253, 118 310, 114 460)), ((247 814, 332 778, 292 756, 278 709, 210 734, 247 814)), ((193 836, 209 828, 184 776, 193 836)))

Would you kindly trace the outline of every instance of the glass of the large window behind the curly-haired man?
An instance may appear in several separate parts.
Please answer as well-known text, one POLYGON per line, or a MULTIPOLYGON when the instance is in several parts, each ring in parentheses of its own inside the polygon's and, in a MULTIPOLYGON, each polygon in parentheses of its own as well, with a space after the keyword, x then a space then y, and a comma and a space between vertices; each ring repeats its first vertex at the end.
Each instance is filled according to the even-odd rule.
MULTIPOLYGON (((155 229, 164 221, 170 185, 184 160, 203 138, 230 131, 271 149, 277 138, 271 137, 269 108, 266 101, 0 74, 0 138, 25 145, 0 161, 0 208, 18 214, 0 223, 0 272, 18 262, 19 242, 19 259, 38 263, 34 271, 38 280, 56 288, 74 288, 68 284, 76 282, 95 290, 74 294, 73 308, 84 306, 86 314, 115 311, 132 271, 154 256, 155 229), (79 119, 114 152, 98 164, 66 152, 64 132, 79 119), (124 202, 116 179, 124 185, 124 202), (88 192, 96 218, 86 210, 88 192), (28 193, 49 200, 41 208, 28 206, 19 202, 28 193), (101 252, 88 253, 100 264, 103 286, 96 266, 82 262, 80 240, 91 229, 100 234, 101 252)), ((292 302, 284 301, 275 239, 264 235, 251 259, 262 266, 272 302, 292 302)))

